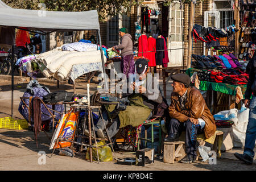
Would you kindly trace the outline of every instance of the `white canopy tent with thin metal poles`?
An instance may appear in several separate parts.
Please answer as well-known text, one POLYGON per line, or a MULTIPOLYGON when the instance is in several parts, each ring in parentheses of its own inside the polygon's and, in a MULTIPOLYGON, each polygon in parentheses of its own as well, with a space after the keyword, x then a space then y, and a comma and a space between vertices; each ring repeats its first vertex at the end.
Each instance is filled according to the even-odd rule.
MULTIPOLYGON (((14 27, 27 31, 40 31, 39 34, 49 34, 55 31, 82 31, 97 30, 101 49, 102 68, 105 73, 104 53, 102 51, 100 23, 97 10, 83 12, 42 11, 13 9, 0 0, 0 26, 14 27)), ((13 90, 14 90, 14 65, 12 61, 12 96, 11 116, 13 117, 13 90)), ((105 85, 106 85, 106 79, 105 85)))

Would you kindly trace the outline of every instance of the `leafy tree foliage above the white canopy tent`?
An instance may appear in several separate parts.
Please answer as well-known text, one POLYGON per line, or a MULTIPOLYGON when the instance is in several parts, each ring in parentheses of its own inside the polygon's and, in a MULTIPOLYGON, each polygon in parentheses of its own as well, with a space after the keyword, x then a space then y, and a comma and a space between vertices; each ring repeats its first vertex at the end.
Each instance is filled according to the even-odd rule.
MULTIPOLYGON (((88 11, 98 10, 100 21, 106 16, 125 14, 130 7, 141 5, 143 0, 2 0, 7 5, 17 9, 40 10, 45 8, 48 11, 88 11), (44 4, 42 6, 42 3, 44 4)), ((164 3, 165 6, 175 0, 164 3)), ((181 0, 183 3, 190 3, 191 0, 181 0)), ((202 0, 198 0, 202 1, 202 0)))

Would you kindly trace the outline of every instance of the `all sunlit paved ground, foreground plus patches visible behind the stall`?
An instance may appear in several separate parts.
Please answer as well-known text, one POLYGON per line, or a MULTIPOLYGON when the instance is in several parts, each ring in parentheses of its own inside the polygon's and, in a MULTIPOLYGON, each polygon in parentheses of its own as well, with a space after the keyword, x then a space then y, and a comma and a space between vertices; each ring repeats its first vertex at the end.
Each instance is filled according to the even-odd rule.
MULTIPOLYGON (((0 79, 0 117, 9 117, 11 114, 11 86, 10 81, 0 79)), ((57 90, 56 84, 41 82, 42 85, 47 86, 52 92, 57 90)), ((26 90, 27 81, 19 80, 15 78, 14 86, 14 117, 22 118, 22 115, 18 112, 19 97, 22 97, 24 90, 26 90), (24 83, 22 83, 24 82, 24 83)), ((77 83, 77 93, 85 93, 84 82, 77 83)), ((94 84, 94 88, 97 84, 94 84)), ((67 83, 61 84, 60 89, 65 89, 69 92, 73 91, 72 85, 67 83)), ((170 94, 171 88, 167 88, 167 96, 170 94)), ((92 93, 93 93, 92 88, 92 93)), ((168 97, 167 97, 168 98, 168 97)), ((170 98, 170 97, 169 97, 170 98)), ((52 133, 47 133, 51 136, 52 133)), ((147 167, 138 166, 123 166, 116 164, 116 160, 112 162, 96 162, 89 163, 80 156, 73 158, 68 156, 59 156, 49 151, 49 140, 46 135, 41 132, 38 137, 39 148, 36 148, 36 142, 34 140, 34 133, 28 130, 5 130, 0 129, 0 170, 123 170, 123 171, 150 171, 150 170, 256 170, 256 164, 247 166, 242 162, 236 160, 233 153, 236 151, 242 152, 242 149, 227 151, 222 153, 222 158, 217 160, 217 165, 210 165, 204 162, 197 162, 194 164, 168 164, 163 163, 162 160, 156 160, 154 164, 147 167), (39 151, 46 152, 46 164, 39 165, 38 159, 39 151)), ((113 153, 113 158, 125 158, 126 156, 134 155, 121 155, 117 152, 113 153)), ((254 161, 255 162, 255 161, 254 161)))

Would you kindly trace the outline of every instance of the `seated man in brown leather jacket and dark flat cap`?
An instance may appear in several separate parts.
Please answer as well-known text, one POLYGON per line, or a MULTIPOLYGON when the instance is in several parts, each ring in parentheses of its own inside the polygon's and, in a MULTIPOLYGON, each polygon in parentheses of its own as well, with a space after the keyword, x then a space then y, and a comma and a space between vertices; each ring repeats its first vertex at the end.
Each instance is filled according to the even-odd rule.
POLYGON ((216 125, 200 91, 189 86, 189 76, 182 73, 171 78, 174 81, 169 107, 172 119, 168 126, 168 137, 164 141, 177 140, 181 131, 185 130, 187 156, 181 162, 191 163, 196 157, 196 135, 204 132, 205 138, 210 138, 216 131, 216 125))

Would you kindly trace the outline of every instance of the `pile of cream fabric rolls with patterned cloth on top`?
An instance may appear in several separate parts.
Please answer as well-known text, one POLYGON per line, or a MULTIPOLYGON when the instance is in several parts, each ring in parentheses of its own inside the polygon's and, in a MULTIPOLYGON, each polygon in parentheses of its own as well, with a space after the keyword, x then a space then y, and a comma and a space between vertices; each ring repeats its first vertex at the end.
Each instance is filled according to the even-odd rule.
MULTIPOLYGON (((106 48, 104 61, 106 61, 106 48)), ((52 51, 29 55, 19 59, 16 63, 23 72, 33 73, 41 71, 45 77, 55 77, 57 80, 67 80, 71 75, 73 65, 100 64, 101 51, 96 44, 75 42, 64 44, 52 51)), ((31 74, 28 76, 31 76, 31 74)))

